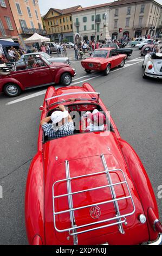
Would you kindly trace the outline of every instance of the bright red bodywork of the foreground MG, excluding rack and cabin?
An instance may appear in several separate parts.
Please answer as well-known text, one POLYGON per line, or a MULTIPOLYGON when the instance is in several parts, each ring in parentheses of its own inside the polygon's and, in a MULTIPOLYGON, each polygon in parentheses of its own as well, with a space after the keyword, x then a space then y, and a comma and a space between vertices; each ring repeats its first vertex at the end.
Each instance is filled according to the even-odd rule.
MULTIPOLYGON (((57 107, 49 107, 47 109, 46 99, 52 96, 61 95, 64 93, 94 92, 94 89, 89 84, 83 84, 82 87, 68 87, 55 90, 49 87, 44 99, 41 119, 47 116, 50 109, 57 107)), ((70 97, 73 95, 70 95, 70 97)), ((89 103, 91 97, 89 97, 89 103)), ((63 99, 68 99, 68 96, 63 96, 63 99)), ((54 104, 57 99, 52 99, 49 104, 54 104)), ((75 104, 80 103, 75 101, 75 104)), ((82 104, 87 104, 83 101, 82 104)), ((93 101, 94 103, 94 101, 93 101)), ((107 111, 106 106, 99 99, 98 104, 103 111, 107 111)), ((74 105, 74 102, 66 102, 64 105, 74 105)), ((122 169, 132 194, 135 204, 135 211, 132 215, 127 216, 127 225, 124 225, 125 234, 121 234, 117 225, 88 231, 87 233, 78 234, 79 245, 99 245, 108 242, 109 245, 138 245, 139 243, 155 240, 158 232, 153 230, 151 222, 148 221, 148 209, 152 208, 154 216, 158 215, 157 203, 154 197, 153 189, 148 179, 147 173, 142 165, 139 157, 132 147, 120 137, 113 119, 106 112, 113 131, 103 132, 87 132, 77 133, 72 136, 52 139, 46 143, 42 143, 43 131, 40 127, 38 135, 38 153, 31 162, 27 188, 25 194, 25 223, 27 228, 27 236, 29 243, 32 245, 73 245, 73 236, 69 236, 68 231, 59 232, 54 227, 53 214, 53 184, 57 180, 65 179, 66 172, 64 162, 69 161, 70 176, 85 175, 88 173, 96 173, 104 170, 100 155, 104 154, 108 169, 122 169), (139 215, 146 216, 146 223, 141 224, 139 215)), ((103 175, 98 178, 88 178, 89 181, 81 180, 74 182, 73 191, 93 188, 95 186, 105 185, 106 178, 103 175), (88 184, 88 185, 87 185, 88 184)), ((119 182, 122 178, 120 174, 114 172, 112 174, 113 182, 119 182)), ((127 191, 124 185, 119 186, 116 191, 123 196, 127 196, 127 191)), ((67 193, 66 184, 57 184, 55 186, 55 195, 67 193)), ((111 193, 108 188, 102 188, 101 192, 87 192, 73 195, 73 203, 75 207, 80 205, 89 205, 95 202, 105 200, 105 195, 108 199, 111 198, 111 193)), ((125 210, 133 211, 133 207, 129 199, 125 199, 119 203, 121 213, 125 210)), ((57 199, 55 202, 55 211, 62 211, 68 208, 67 199, 57 199)), ((100 205, 101 216, 109 218, 115 215, 113 204, 109 207, 104 204, 100 205)), ((91 216, 92 217, 92 216, 91 216)), ((76 212, 75 221, 77 225, 89 223, 92 218, 89 215, 89 209, 85 208, 76 212)), ((96 225, 95 225, 96 226, 96 225)), ((56 216, 56 228, 64 229, 70 227, 69 213, 56 216)))

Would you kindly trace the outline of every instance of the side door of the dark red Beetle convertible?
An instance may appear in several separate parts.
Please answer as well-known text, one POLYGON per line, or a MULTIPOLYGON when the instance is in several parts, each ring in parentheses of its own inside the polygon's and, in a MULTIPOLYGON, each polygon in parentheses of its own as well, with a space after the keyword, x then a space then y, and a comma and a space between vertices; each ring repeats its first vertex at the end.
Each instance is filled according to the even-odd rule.
POLYGON ((30 60, 28 60, 28 80, 30 83, 25 87, 35 87, 42 86, 45 84, 53 83, 53 76, 51 75, 50 67, 41 58, 34 59, 34 64, 32 60, 32 65, 30 65, 30 60))

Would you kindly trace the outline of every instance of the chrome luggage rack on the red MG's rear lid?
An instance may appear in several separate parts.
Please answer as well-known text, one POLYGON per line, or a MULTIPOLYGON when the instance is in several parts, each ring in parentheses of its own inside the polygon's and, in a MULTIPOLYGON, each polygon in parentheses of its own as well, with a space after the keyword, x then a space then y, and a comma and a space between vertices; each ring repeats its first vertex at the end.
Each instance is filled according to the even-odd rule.
POLYGON ((101 157, 103 167, 105 169, 104 171, 96 172, 96 173, 90 173, 90 174, 86 174, 86 175, 75 176, 75 177, 70 177, 69 161, 66 160, 65 161, 66 179, 57 180, 53 184, 54 227, 58 232, 68 231, 69 235, 73 236, 74 245, 78 244, 78 238, 77 238, 78 234, 85 233, 85 232, 88 232, 88 231, 93 231, 93 230, 96 230, 96 229, 110 227, 112 225, 118 225, 118 229, 119 229, 120 233, 124 234, 125 231, 124 231, 124 228, 123 228, 122 224, 123 223, 127 224, 126 216, 133 215, 134 212, 135 212, 135 205, 134 205, 133 198, 132 198, 132 195, 131 195, 131 191, 129 190, 124 172, 121 169, 108 170, 106 160, 105 160, 105 156, 103 154, 101 154, 100 157, 101 157), (120 172, 122 174, 123 180, 121 182, 113 183, 112 178, 111 178, 111 173, 113 173, 113 172, 120 172), (103 174, 106 175, 108 185, 93 187, 93 188, 89 188, 87 190, 80 190, 80 191, 72 192, 72 181, 73 180, 85 179, 85 178, 88 178, 89 176, 97 176, 97 175, 103 175, 103 174), (55 196, 55 185, 58 184, 59 182, 67 182, 67 193, 66 194, 59 194, 59 195, 55 196), (114 190, 114 186, 118 186, 118 185, 121 185, 121 184, 126 184, 127 191, 128 191, 128 196, 117 198, 115 190, 114 190), (87 192, 87 191, 99 190, 101 188, 106 188, 106 187, 109 187, 110 190, 111 190, 111 195, 112 195, 111 200, 105 200, 104 202, 94 203, 94 204, 89 204, 89 205, 83 205, 81 207, 74 208, 74 206, 73 206, 73 195, 74 194, 79 194, 79 193, 83 193, 83 192, 87 192), (61 197, 68 197, 69 209, 63 210, 63 211, 55 211, 55 199, 61 198, 61 197), (130 199, 131 200, 131 203, 132 203, 132 206, 133 206, 133 211, 132 212, 126 212, 125 214, 121 215, 118 201, 119 200, 125 200, 125 199, 130 199), (114 217, 107 218, 107 219, 101 220, 101 221, 90 222, 90 223, 87 223, 87 224, 76 225, 75 214, 74 214, 75 211, 80 210, 80 209, 85 209, 85 208, 91 208, 92 206, 108 204, 108 203, 113 203, 114 204, 114 209, 115 209, 115 212, 116 212, 116 215, 114 217), (56 215, 64 214, 66 212, 69 212, 71 227, 66 228, 66 229, 58 229, 56 227, 56 220, 55 220, 56 215), (102 223, 109 222, 109 221, 114 221, 114 222, 102 225, 102 223), (101 225, 99 227, 92 227, 92 228, 89 227, 89 226, 96 225, 96 224, 101 224, 101 225), (89 227, 89 228, 86 228, 86 227, 89 227), (80 229, 80 228, 85 228, 85 229, 81 230, 81 231, 77 231, 77 229, 80 229))

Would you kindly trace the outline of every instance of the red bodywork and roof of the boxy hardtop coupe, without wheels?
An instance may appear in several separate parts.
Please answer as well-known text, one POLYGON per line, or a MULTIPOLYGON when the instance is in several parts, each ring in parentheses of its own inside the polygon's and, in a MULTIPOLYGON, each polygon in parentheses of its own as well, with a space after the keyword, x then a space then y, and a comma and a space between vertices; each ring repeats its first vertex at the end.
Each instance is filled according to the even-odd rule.
MULTIPOLYGON (((111 69, 115 68, 116 66, 119 66, 122 62, 122 59, 125 59, 125 54, 118 54, 117 56, 109 57, 109 52, 115 48, 99 48, 96 49, 96 51, 107 51, 107 57, 101 58, 101 57, 89 57, 81 61, 81 65, 86 70, 98 70, 103 71, 106 69, 107 65, 111 65, 111 69), (93 66, 89 66, 89 64, 93 64, 93 66)), ((116 49, 115 49, 116 50, 116 49)))

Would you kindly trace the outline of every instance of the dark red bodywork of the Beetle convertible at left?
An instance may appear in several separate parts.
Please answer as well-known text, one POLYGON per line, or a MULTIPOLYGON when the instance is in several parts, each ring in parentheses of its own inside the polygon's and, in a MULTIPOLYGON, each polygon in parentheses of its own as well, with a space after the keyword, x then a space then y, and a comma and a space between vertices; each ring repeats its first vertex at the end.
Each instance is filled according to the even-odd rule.
MULTIPOLYGON (((42 60, 43 61, 43 60, 42 60)), ((0 75, 0 93, 7 83, 17 84, 21 90, 32 87, 59 83, 61 75, 68 72, 72 77, 75 74, 73 68, 64 63, 53 63, 40 68, 11 71, 9 74, 0 75)))

